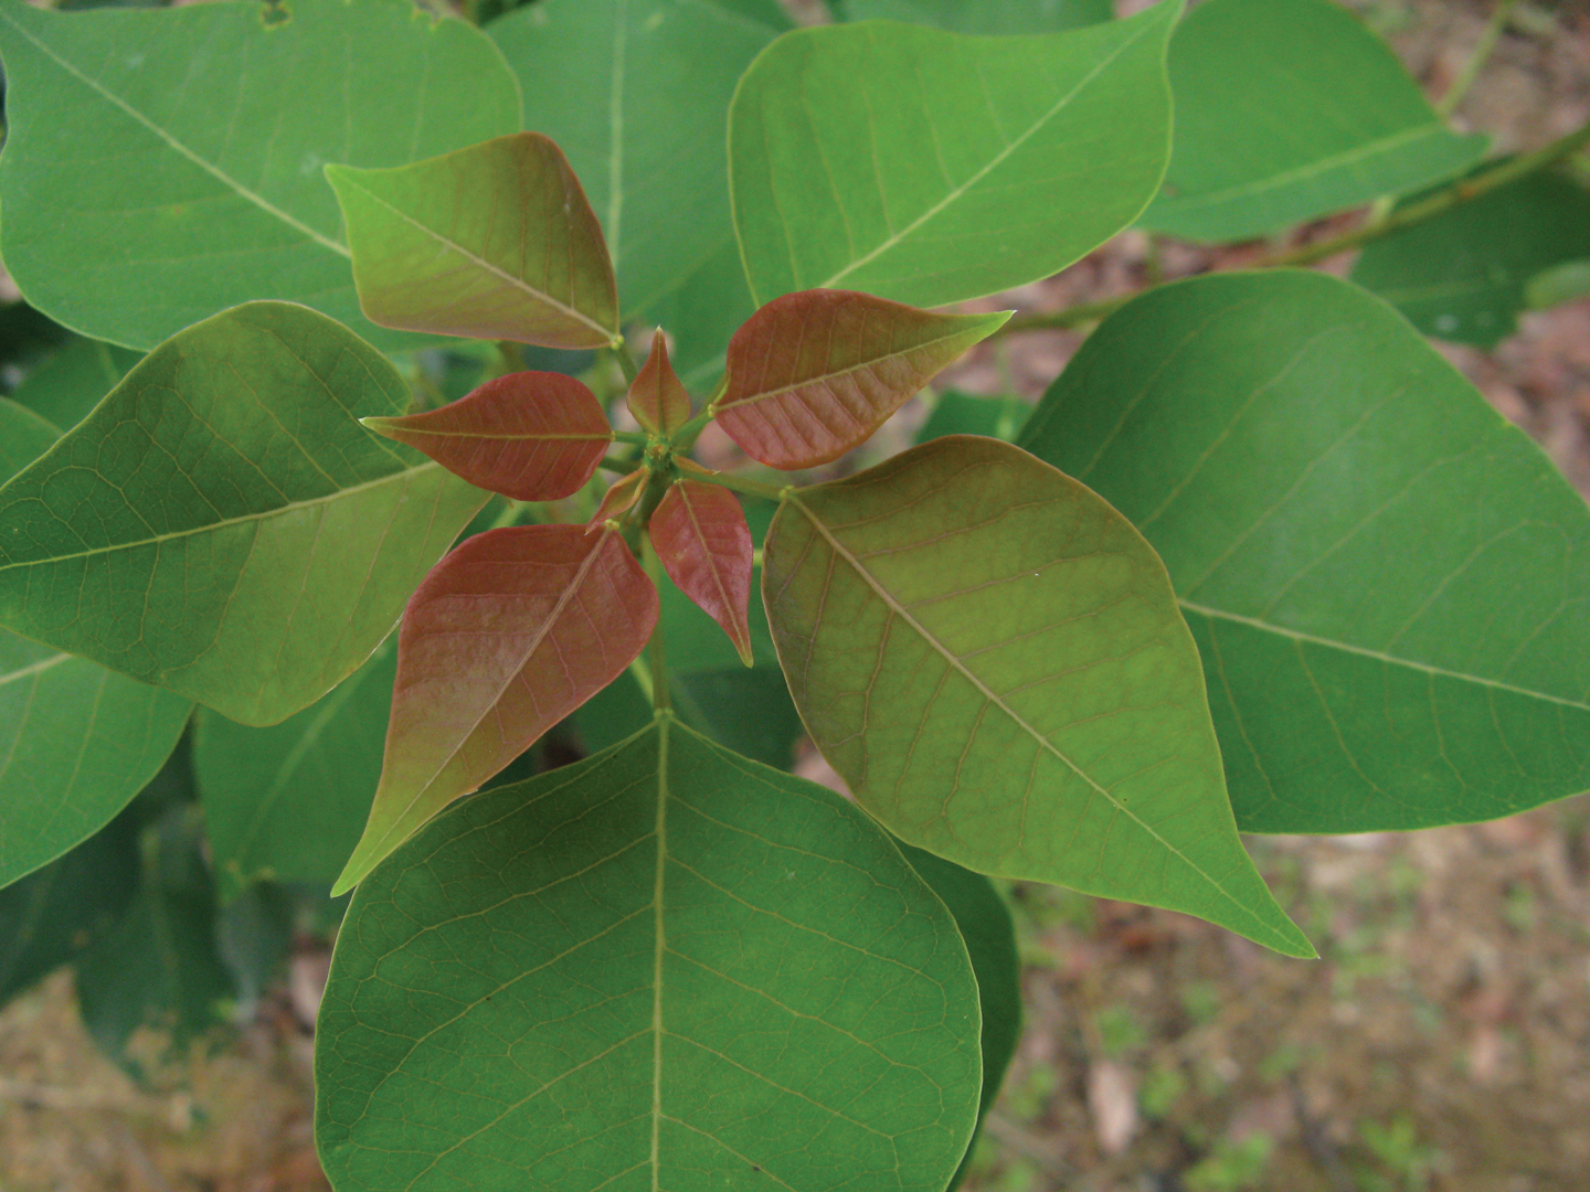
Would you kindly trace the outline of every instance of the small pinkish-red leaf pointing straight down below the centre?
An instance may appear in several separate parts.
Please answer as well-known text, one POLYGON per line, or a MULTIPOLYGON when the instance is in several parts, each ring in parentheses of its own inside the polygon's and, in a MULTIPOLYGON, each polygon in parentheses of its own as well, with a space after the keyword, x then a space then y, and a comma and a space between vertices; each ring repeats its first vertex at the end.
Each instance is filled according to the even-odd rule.
POLYGON ((676 480, 647 532, 669 579, 750 658, 750 526, 738 497, 719 485, 676 480))

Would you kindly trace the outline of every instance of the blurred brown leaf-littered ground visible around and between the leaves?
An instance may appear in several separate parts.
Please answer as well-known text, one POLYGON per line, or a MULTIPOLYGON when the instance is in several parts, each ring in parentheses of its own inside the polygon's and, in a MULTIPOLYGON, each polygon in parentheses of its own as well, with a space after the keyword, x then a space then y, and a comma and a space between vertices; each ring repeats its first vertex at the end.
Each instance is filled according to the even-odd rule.
MULTIPOLYGON (((1433 95, 1490 10, 1355 6, 1433 95)), ((1460 118, 1526 148, 1587 116, 1590 6, 1520 3, 1460 118)), ((1264 248, 1164 246, 1151 261, 1127 234, 1011 297, 1059 308, 1264 248)), ((1014 337, 952 380, 1035 399, 1081 339, 1014 337)), ((1590 493, 1590 302, 1526 316, 1495 353, 1442 350, 1590 493)), ((1169 912, 1011 890, 1027 1027, 968 1187, 1590 1187, 1590 798, 1477 826, 1250 844, 1320 962, 1169 912)), ((154 1089, 94 1051, 70 974, 13 1003, 0 1012, 0 1192, 323 1189, 307 1025, 323 974, 323 949, 305 942, 246 1027, 199 1044, 154 1089)))

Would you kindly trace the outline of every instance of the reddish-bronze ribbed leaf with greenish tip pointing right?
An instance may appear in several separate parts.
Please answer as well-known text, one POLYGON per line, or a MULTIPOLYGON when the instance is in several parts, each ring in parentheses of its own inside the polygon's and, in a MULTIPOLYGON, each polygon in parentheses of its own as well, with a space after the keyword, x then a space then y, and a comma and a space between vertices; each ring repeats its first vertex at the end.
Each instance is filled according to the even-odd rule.
POLYGON ((935 315, 847 289, 785 294, 730 340, 717 421, 773 467, 825 464, 1008 318, 935 315))

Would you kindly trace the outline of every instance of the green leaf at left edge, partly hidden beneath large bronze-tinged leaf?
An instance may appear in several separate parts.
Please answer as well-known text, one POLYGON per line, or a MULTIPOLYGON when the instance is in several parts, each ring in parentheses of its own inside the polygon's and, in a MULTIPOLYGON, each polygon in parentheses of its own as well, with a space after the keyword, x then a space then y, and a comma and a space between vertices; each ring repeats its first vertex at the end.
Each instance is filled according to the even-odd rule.
MULTIPOLYGON (((52 426, 0 397, 0 482, 54 440, 52 426)), ((191 699, 0 629, 0 887, 103 828, 191 710, 191 699)))

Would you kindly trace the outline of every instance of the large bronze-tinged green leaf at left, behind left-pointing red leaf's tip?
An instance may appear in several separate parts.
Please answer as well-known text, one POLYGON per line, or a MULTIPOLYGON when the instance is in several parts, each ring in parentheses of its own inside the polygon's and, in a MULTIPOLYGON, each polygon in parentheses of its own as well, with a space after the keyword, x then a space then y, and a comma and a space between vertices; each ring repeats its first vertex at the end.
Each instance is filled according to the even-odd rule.
POLYGON ((0 488, 0 625, 243 723, 307 707, 485 501, 355 421, 407 404, 307 307, 189 327, 0 488))

